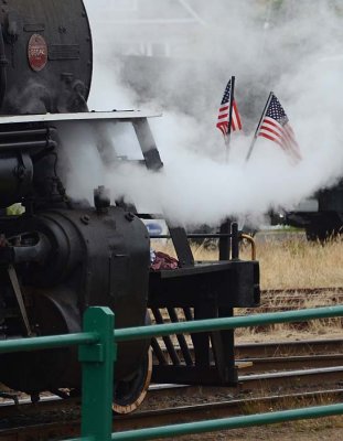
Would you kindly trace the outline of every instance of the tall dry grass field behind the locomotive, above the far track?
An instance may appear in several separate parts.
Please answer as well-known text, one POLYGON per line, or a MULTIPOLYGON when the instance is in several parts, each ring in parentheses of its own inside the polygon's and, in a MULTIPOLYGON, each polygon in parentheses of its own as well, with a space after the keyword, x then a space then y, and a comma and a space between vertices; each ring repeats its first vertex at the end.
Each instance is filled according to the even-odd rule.
MULTIPOLYGON (((260 265, 261 289, 343 287, 343 239, 324 246, 309 243, 302 236, 286 240, 275 235, 265 240, 256 238, 257 260, 260 265)), ((167 244, 160 250, 175 256, 167 244)), ((195 260, 217 260, 217 250, 193 246, 195 260)), ((240 247, 240 258, 250 259, 249 245, 240 247)))

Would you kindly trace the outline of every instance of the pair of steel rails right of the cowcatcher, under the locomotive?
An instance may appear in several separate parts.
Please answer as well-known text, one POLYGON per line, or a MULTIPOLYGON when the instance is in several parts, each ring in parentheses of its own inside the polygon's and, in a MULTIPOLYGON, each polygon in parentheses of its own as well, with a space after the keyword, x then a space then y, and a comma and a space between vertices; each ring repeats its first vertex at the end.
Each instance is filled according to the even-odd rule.
POLYGON ((235 357, 240 391, 343 384, 343 338, 238 344, 235 357))

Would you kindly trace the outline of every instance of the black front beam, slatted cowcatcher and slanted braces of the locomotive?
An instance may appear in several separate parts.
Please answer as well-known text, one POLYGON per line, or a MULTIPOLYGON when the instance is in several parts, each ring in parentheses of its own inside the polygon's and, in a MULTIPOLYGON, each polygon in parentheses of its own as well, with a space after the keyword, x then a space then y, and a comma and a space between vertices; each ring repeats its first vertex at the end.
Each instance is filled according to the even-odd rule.
MULTIPOLYGON (((161 169, 163 163, 148 120, 136 120, 133 127, 147 168, 161 169)), ((161 217, 151 214, 139 216, 161 217)), ((163 323, 163 316, 172 322, 226 318, 234 314, 234 308, 259 304, 258 262, 239 261, 240 233, 236 223, 227 219, 221 226, 219 234, 207 235, 187 235, 183 227, 168 227, 169 236, 151 238, 171 238, 180 268, 150 272, 148 306, 157 323, 163 323), (195 262, 189 239, 196 237, 218 238, 218 261, 195 262), (180 311, 183 312, 182 318, 180 311)), ((159 341, 152 338, 156 356, 152 381, 236 385, 233 330, 191 334, 189 338, 178 334, 175 341, 180 346, 179 353, 171 336, 159 341), (193 352, 189 347, 191 343, 193 352)))

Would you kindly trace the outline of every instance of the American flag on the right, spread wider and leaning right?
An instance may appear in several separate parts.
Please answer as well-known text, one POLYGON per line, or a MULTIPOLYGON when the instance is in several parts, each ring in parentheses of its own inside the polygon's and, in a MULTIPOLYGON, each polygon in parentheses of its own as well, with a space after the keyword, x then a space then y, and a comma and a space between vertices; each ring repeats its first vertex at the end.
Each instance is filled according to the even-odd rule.
POLYGON ((294 132, 289 125, 288 117, 278 98, 272 94, 265 118, 262 119, 258 137, 265 137, 277 142, 294 161, 302 158, 294 132))

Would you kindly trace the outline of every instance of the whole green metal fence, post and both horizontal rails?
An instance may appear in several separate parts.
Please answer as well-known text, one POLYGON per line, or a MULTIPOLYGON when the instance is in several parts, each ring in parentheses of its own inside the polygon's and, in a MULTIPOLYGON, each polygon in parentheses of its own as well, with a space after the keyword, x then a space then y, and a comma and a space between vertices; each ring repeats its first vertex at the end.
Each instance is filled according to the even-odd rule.
POLYGON ((343 316, 343 305, 114 331, 114 313, 108 308, 95 306, 89 308, 85 313, 84 332, 0 342, 0 354, 71 345, 79 346, 79 362, 83 368, 82 438, 68 441, 153 440, 168 438, 171 434, 175 438, 189 433, 343 415, 343 404, 111 433, 114 362, 116 362, 118 342, 183 332, 196 333, 335 316, 343 316))

